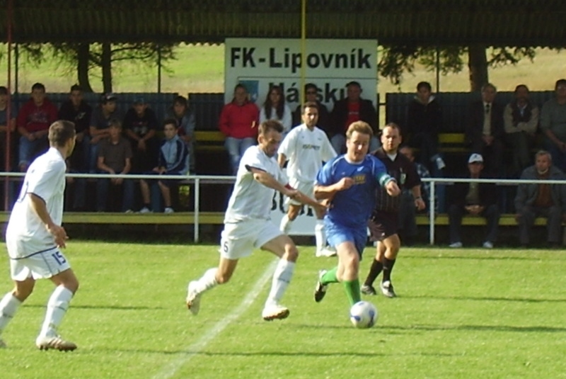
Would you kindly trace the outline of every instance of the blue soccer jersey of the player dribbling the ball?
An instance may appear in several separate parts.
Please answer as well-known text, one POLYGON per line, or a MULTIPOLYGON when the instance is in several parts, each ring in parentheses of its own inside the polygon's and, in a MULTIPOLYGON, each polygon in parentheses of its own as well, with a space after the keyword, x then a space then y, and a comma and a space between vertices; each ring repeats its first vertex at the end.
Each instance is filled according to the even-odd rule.
POLYGON ((366 155, 359 163, 347 162, 345 155, 340 155, 318 171, 316 184, 331 186, 345 177, 354 179, 354 185, 335 193, 325 218, 337 225, 365 230, 374 210, 376 188, 394 179, 387 174, 385 165, 372 155, 366 155))

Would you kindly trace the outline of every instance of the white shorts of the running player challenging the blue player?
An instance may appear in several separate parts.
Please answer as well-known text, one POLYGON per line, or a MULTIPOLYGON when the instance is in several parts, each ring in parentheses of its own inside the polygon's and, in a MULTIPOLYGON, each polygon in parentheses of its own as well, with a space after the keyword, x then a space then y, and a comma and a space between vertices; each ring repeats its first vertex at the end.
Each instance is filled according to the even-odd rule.
POLYGON ((252 254, 283 232, 267 220, 246 220, 224 224, 220 239, 220 255, 226 259, 240 259, 252 254))

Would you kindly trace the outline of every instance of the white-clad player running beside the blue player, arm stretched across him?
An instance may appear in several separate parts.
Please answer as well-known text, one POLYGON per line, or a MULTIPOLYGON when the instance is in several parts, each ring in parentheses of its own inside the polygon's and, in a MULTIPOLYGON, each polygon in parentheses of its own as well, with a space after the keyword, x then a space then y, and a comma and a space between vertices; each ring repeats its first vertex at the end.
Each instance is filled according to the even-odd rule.
POLYGON ((287 175, 281 170, 275 154, 282 140, 283 126, 277 120, 267 120, 258 130, 259 145, 249 147, 238 166, 236 183, 230 197, 224 230, 220 242, 220 263, 210 268, 202 278, 188 286, 187 307, 196 315, 204 291, 228 282, 236 269, 238 259, 249 256, 253 249, 271 251, 279 257, 273 273, 270 294, 262 311, 263 319, 284 319, 289 309, 279 304, 291 281, 299 256, 293 241, 270 222, 275 191, 301 203, 320 208, 321 205, 289 186, 287 175))

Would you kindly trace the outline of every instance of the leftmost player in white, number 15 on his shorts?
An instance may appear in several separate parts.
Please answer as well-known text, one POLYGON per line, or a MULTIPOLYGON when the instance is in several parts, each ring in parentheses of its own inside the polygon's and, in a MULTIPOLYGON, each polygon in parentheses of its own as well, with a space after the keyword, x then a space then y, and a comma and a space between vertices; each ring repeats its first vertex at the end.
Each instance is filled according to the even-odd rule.
MULTIPOLYGON (((69 261, 60 248, 67 233, 61 226, 65 189, 65 159, 75 145, 74 123, 56 121, 49 128, 50 149, 28 168, 13 206, 6 246, 15 288, 0 300, 0 336, 16 310, 32 293, 37 279, 50 279, 57 287, 47 302, 47 312, 35 344, 39 349, 69 351, 72 342, 57 334, 69 302, 79 288, 69 261)), ((0 347, 5 347, 0 339, 0 347)))

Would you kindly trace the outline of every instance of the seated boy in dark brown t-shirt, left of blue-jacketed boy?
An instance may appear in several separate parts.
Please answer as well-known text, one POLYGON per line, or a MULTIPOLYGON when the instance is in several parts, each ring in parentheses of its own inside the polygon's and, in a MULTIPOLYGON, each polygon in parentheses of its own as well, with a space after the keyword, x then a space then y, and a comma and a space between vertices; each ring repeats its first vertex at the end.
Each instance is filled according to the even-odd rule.
MULTIPOLYGON (((110 120, 109 137, 100 141, 98 149, 98 170, 100 174, 129 174, 132 169, 132 145, 122 137, 122 125, 110 120)), ((98 179, 96 182, 96 210, 108 209, 108 186, 122 187, 122 212, 132 212, 134 204, 134 182, 131 179, 98 179)), ((117 193, 112 191, 112 194, 117 193)), ((117 197, 112 196, 115 204, 117 197)))

